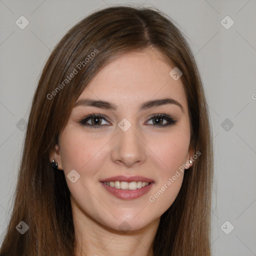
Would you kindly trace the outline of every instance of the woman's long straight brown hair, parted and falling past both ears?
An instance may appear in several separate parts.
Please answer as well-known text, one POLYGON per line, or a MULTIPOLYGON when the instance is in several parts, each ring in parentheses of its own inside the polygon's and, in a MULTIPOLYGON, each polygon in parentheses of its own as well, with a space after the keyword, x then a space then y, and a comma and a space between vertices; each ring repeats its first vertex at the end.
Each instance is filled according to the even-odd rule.
POLYGON ((184 36, 168 16, 157 9, 129 6, 90 14, 72 27, 50 54, 31 105, 13 210, 0 255, 74 255, 70 194, 63 171, 51 167, 49 154, 76 99, 95 74, 120 54, 148 47, 160 51, 170 66, 182 71, 190 145, 201 153, 184 172, 175 201, 160 218, 153 255, 210 255, 211 129, 196 63, 184 36), (29 226, 24 234, 15 228, 20 221, 29 226))

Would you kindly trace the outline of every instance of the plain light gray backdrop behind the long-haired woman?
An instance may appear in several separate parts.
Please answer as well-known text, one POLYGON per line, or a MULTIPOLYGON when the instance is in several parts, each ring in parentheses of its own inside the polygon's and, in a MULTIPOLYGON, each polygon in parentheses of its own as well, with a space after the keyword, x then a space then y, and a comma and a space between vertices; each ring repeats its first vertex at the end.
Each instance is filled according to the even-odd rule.
POLYGON ((255 0, 0 0, 0 233, 9 219, 22 118, 28 120, 50 51, 94 10, 132 3, 155 6, 177 22, 201 73, 214 144, 213 255, 256 255, 255 0), (29 21, 24 29, 15 23, 21 15, 29 21))

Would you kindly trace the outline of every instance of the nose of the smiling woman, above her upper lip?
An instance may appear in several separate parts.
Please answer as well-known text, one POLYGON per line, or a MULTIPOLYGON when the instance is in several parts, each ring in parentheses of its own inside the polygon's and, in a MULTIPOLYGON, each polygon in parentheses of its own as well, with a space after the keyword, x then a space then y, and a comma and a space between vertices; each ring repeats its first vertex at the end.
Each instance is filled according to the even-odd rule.
POLYGON ((114 145, 111 151, 112 161, 131 167, 141 164, 146 159, 146 145, 143 143, 141 132, 135 125, 123 131, 117 127, 117 134, 114 136, 114 145))

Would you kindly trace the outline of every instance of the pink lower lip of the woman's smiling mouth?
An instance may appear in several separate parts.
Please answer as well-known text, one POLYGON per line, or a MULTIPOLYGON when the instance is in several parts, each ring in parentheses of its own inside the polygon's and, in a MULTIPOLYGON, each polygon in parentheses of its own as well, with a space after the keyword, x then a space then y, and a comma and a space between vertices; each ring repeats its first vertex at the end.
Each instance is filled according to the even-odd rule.
POLYGON ((143 186, 141 188, 137 188, 134 190, 128 190, 128 189, 118 189, 115 187, 108 186, 101 182, 102 186, 111 194, 116 196, 120 199, 136 199, 144 194, 146 194, 151 187, 153 186, 154 182, 151 182, 150 184, 143 186))

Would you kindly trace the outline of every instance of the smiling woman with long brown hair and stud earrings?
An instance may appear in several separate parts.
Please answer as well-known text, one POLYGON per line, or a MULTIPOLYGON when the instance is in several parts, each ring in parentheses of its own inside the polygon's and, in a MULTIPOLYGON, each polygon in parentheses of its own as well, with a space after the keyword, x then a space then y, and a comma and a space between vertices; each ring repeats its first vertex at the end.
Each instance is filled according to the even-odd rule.
POLYGON ((92 13, 43 68, 0 255, 210 255, 210 138, 171 20, 92 13))

